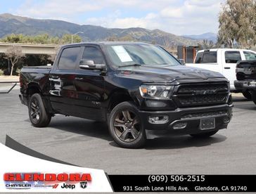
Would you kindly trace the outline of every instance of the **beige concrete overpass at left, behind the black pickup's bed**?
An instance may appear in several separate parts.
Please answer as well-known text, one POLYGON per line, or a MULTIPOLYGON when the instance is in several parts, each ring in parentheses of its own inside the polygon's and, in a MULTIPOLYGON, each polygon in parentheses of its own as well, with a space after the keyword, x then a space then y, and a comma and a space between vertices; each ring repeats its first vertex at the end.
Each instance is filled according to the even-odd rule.
POLYGON ((56 54, 56 48, 58 44, 20 44, 20 43, 6 43, 0 42, 0 53, 6 53, 6 50, 10 46, 21 46, 23 53, 25 54, 56 54))

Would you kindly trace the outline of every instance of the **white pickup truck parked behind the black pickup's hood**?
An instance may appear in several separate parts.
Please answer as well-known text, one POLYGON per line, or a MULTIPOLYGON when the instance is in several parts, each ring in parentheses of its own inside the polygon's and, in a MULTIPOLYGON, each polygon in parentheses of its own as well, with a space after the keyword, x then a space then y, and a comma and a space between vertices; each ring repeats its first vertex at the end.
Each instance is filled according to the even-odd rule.
POLYGON ((200 50, 196 53, 194 63, 186 63, 189 67, 199 67, 214 72, 219 72, 229 79, 233 92, 242 92, 245 98, 251 98, 249 91, 237 91, 234 86, 236 80, 236 63, 238 60, 255 60, 256 52, 234 48, 212 48, 200 50))

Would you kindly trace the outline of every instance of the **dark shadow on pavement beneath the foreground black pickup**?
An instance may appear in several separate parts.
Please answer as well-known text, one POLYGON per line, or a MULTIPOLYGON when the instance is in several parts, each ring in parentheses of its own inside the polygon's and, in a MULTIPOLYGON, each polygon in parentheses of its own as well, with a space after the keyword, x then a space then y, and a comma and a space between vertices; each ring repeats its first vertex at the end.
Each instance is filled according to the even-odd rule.
MULTIPOLYGON (((30 122, 27 120, 27 122, 30 122)), ((108 133, 108 126, 104 122, 94 122, 87 119, 52 119, 49 124, 49 128, 58 129, 62 131, 68 131, 74 134, 83 135, 93 138, 101 138, 109 142, 109 145, 119 148, 113 138, 108 133)), ((165 138, 149 139, 146 145, 142 149, 154 150, 154 149, 177 149, 188 147, 203 147, 211 145, 213 143, 220 143, 226 140, 226 136, 221 134, 215 134, 209 138, 193 138, 191 136, 168 136, 165 138)))

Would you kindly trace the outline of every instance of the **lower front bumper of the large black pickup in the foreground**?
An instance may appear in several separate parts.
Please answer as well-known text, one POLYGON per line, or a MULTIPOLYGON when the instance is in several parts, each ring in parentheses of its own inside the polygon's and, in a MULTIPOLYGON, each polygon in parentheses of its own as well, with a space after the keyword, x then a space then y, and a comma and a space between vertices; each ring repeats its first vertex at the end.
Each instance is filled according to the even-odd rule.
POLYGON ((157 134, 167 132, 168 134, 200 134, 205 131, 226 129, 232 117, 233 105, 215 105, 199 108, 177 108, 172 111, 140 111, 142 124, 146 133, 157 134), (148 122, 149 117, 168 116, 169 121, 165 124, 152 124, 148 122), (200 120, 204 118, 215 118, 215 129, 200 129, 200 120), (177 123, 186 123, 183 129, 175 129, 177 123))

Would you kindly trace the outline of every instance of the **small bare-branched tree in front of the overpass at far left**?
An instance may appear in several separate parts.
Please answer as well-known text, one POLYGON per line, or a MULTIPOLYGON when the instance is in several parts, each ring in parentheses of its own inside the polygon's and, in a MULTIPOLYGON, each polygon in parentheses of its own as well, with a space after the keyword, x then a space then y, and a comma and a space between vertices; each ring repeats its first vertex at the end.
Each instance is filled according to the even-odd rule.
POLYGON ((21 46, 10 46, 6 49, 6 58, 11 61, 11 74, 13 75, 13 67, 20 58, 25 56, 22 52, 21 46))

